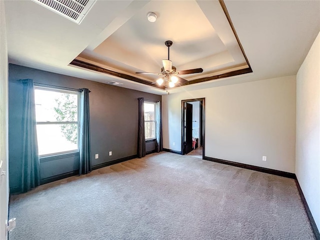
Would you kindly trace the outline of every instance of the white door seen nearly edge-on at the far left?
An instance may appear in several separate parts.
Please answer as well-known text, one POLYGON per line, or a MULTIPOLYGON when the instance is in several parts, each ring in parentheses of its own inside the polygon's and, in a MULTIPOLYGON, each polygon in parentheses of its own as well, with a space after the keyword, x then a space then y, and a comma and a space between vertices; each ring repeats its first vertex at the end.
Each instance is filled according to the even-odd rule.
POLYGON ((7 239, 6 222, 8 218, 8 61, 4 1, 0 0, 0 240, 7 239))

